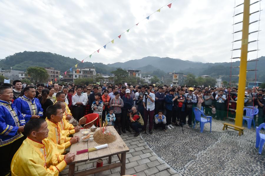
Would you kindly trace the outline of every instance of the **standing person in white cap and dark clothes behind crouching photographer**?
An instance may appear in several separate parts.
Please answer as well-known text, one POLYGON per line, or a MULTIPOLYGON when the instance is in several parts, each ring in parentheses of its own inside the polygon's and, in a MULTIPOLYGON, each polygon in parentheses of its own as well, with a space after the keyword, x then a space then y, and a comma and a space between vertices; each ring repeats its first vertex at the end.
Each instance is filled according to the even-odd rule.
POLYGON ((131 132, 129 128, 129 123, 128 123, 129 118, 127 118, 127 115, 129 113, 128 110, 131 110, 133 106, 133 100, 130 94, 131 94, 131 90, 126 89, 125 95, 122 96, 122 100, 124 104, 122 108, 122 133, 125 133, 125 128, 128 132, 131 132))

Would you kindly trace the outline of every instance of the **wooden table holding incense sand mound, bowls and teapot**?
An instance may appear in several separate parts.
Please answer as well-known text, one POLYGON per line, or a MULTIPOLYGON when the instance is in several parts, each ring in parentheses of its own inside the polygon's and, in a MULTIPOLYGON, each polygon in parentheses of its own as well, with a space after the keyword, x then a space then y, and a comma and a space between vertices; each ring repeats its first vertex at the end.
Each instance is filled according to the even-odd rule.
MULTIPOLYGON (((81 129, 80 132, 74 133, 74 136, 80 137, 80 141, 76 144, 71 145, 71 148, 70 148, 71 153, 76 154, 76 151, 78 150, 84 150, 84 149, 88 149, 88 148, 92 148, 92 147, 100 145, 100 144, 97 144, 95 141, 90 142, 90 140, 88 140, 87 142, 84 142, 81 139, 81 137, 83 136, 82 131, 86 131, 86 130, 91 133, 89 129, 81 129)), ((96 131, 98 130, 100 130, 100 128, 96 129, 96 131)), ((90 174, 94 174, 97 172, 102 172, 105 170, 110 170, 115 167, 120 167, 120 175, 125 175, 125 158, 126 158, 126 152, 129 152, 129 148, 124 143, 124 141, 122 140, 122 138, 120 137, 120 135, 117 133, 117 131, 115 130, 113 126, 108 126, 108 130, 111 131, 112 134, 114 134, 117 137, 117 139, 113 143, 108 144, 109 147, 107 148, 76 155, 74 158, 74 161, 72 163, 69 163, 69 172, 68 172, 69 176, 73 176, 73 175, 75 176, 84 175, 85 176, 85 175, 90 175, 90 174), (117 155, 120 162, 111 164, 111 158, 113 155, 117 155), (104 157, 109 157, 108 159, 109 165, 93 168, 90 170, 85 170, 82 172, 77 172, 74 174, 75 163, 85 162, 87 160, 90 160, 90 161, 97 160, 99 158, 104 158, 104 157)), ((92 131, 92 133, 95 133, 96 131, 92 131)))

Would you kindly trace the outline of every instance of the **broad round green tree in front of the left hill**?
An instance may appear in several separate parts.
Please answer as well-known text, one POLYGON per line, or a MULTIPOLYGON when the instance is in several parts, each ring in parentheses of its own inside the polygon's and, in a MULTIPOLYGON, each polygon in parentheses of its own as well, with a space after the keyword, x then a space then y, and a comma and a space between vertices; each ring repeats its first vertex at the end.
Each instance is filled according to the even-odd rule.
POLYGON ((48 73, 43 67, 28 67, 27 73, 30 78, 35 81, 35 83, 45 83, 48 82, 48 73))

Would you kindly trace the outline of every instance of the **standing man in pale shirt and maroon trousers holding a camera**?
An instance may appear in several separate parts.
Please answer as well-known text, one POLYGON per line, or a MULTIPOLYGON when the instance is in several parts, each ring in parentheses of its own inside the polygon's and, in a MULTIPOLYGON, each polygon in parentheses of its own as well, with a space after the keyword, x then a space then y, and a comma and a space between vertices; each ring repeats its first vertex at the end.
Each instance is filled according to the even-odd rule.
POLYGON ((152 128, 155 113, 155 94, 150 92, 149 86, 146 86, 145 88, 146 91, 143 98, 143 106, 145 107, 145 124, 143 129, 146 131, 147 120, 149 117, 149 133, 153 134, 152 128))

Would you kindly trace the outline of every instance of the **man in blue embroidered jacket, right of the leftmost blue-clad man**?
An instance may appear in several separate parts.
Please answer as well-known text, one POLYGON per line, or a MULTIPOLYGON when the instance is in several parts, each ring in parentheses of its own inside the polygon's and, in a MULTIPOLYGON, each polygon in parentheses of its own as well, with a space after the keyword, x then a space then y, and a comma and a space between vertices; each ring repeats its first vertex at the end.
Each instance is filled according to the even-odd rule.
POLYGON ((14 101, 16 108, 22 113, 26 123, 31 118, 40 118, 43 115, 43 109, 39 103, 39 99, 35 98, 36 90, 29 86, 24 89, 24 96, 17 98, 14 101))

